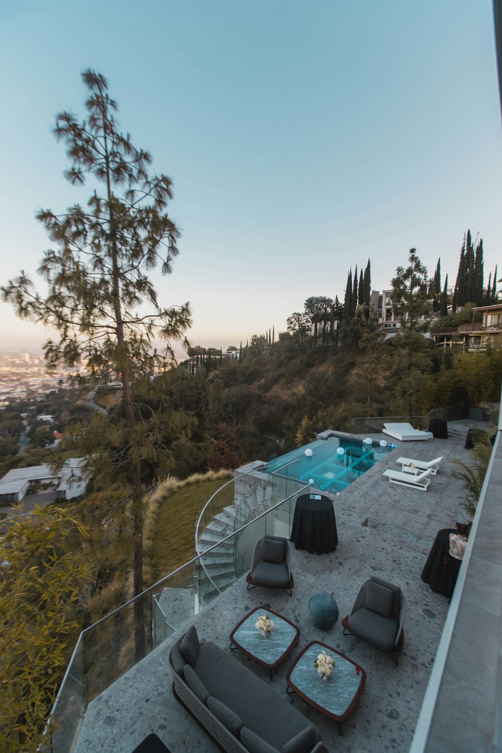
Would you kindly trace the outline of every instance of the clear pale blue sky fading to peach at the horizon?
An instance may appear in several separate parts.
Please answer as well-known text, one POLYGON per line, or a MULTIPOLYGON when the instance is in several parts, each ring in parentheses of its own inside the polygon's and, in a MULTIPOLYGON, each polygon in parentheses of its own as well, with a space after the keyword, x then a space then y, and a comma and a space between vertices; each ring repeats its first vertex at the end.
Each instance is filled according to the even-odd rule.
MULTIPOLYGON (((190 301, 193 345, 277 336, 368 258, 388 288, 412 247, 452 285, 467 229, 485 282, 502 265, 490 0, 0 0, 0 285, 42 284, 35 213, 93 191, 51 133, 84 117, 87 68, 172 178, 180 253, 151 277, 162 306, 190 301)), ((46 337, 0 303, 0 350, 46 337)))

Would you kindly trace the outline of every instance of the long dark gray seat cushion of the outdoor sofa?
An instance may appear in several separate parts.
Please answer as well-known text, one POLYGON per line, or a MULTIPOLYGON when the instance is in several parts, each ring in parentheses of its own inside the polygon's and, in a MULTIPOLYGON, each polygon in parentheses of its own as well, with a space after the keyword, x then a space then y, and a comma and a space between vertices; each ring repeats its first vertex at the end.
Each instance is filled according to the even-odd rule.
MULTIPOLYGON (((210 641, 201 645, 195 671, 209 695, 232 709, 242 719, 243 727, 253 730, 278 751, 309 726, 309 721, 291 703, 230 652, 210 641)), ((321 735, 317 728, 315 733, 317 742, 321 735)))

